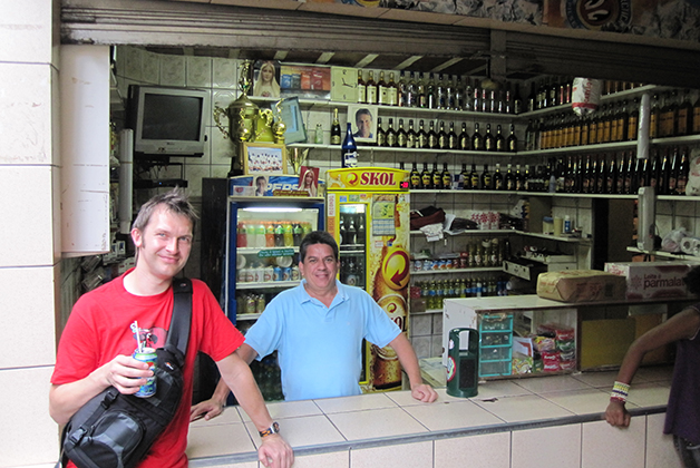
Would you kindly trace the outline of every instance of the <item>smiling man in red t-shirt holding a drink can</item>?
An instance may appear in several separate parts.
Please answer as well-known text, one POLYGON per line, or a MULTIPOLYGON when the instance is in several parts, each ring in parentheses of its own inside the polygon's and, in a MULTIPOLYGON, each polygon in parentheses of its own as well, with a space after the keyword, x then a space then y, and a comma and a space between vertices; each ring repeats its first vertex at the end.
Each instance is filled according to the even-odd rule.
MULTIPOLYGON (((80 407, 109 386, 133 394, 153 374, 146 363, 132 358, 136 340, 130 325, 138 323, 138 333, 149 347, 165 343, 173 313, 172 280, 189 256, 195 220, 192 205, 178 188, 144 204, 132 230, 136 266, 82 295, 68 319, 49 392, 49 411, 56 422, 67 423, 80 407)), ((222 378, 261 432, 261 462, 274 468, 293 464, 292 449, 278 433, 279 426, 272 421, 250 368, 234 353, 243 341, 208 287, 193 280, 184 394, 173 421, 139 468, 187 466, 185 448, 198 351, 216 361, 222 378)))

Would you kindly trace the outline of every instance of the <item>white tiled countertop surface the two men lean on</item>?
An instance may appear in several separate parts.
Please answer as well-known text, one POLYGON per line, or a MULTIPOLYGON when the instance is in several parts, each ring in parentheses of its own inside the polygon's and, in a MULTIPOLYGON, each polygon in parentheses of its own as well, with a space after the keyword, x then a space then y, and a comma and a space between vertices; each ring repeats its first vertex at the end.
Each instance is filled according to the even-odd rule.
MULTIPOLYGON (((642 368, 632 382, 628 409, 663 411, 671 387, 671 367, 642 368)), ((523 423, 563 425, 572 418, 599 420, 607 407, 616 371, 584 372, 480 382, 478 394, 463 399, 437 389, 438 400, 422 403, 409 391, 358 397, 273 402, 268 408, 282 436, 298 452, 333 451, 348 446, 391 445, 430 439, 440 433, 487 428, 508 430, 523 423)), ((257 431, 239 407, 189 428, 191 466, 214 459, 256 459, 257 431), (214 457, 212 459, 211 457, 214 457)))

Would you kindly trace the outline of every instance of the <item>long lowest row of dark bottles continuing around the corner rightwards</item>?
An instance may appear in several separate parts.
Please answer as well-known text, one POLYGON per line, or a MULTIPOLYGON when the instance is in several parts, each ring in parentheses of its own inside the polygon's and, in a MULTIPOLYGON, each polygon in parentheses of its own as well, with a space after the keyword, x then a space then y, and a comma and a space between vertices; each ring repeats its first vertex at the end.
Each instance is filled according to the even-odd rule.
POLYGON ((636 194, 639 187, 651 186, 659 195, 684 195, 689 175, 687 147, 653 149, 648 159, 638 159, 633 150, 619 154, 592 154, 550 159, 547 164, 521 166, 508 164, 502 172, 496 164, 492 173, 488 164, 477 169, 476 164, 453 177, 447 163, 443 170, 432 163, 417 163, 410 172, 411 189, 465 189, 506 192, 548 192, 581 194, 636 194))

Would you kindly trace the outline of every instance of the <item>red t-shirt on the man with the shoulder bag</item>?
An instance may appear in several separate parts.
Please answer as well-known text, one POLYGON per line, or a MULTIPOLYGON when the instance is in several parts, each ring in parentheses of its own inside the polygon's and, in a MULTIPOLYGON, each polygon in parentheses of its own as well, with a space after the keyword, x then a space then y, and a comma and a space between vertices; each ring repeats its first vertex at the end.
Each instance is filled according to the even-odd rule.
MULTIPOLYGON (((134 321, 138 321, 140 330, 147 330, 148 345, 165 345, 173 314, 173 289, 157 295, 137 296, 124 289, 125 275, 78 300, 58 345, 51 383, 60 386, 75 382, 117 354, 130 355, 136 349, 136 339, 130 329, 134 321)), ((153 445, 139 468, 187 466, 185 448, 197 351, 220 361, 244 341, 208 287, 198 280, 192 283, 192 329, 185 357, 185 393, 175 418, 153 445)), ((69 466, 74 467, 72 464, 69 466)))

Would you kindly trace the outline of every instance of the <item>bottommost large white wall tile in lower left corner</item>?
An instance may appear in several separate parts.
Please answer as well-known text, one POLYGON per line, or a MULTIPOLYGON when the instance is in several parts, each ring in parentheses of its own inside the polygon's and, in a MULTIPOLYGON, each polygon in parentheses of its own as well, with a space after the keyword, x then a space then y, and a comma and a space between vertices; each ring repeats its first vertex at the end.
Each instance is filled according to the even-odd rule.
POLYGON ((0 465, 38 465, 58 458, 58 425, 49 417, 54 367, 0 370, 0 465))

